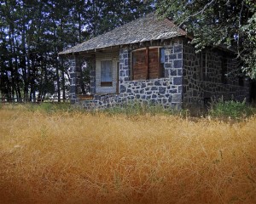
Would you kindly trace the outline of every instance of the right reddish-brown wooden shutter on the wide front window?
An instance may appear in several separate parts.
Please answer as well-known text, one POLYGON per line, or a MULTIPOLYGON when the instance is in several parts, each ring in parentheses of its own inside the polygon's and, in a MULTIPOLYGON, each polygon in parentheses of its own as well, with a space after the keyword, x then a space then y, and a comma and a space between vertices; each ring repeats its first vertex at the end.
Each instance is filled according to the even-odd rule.
POLYGON ((159 48, 149 48, 148 78, 160 78, 159 48))

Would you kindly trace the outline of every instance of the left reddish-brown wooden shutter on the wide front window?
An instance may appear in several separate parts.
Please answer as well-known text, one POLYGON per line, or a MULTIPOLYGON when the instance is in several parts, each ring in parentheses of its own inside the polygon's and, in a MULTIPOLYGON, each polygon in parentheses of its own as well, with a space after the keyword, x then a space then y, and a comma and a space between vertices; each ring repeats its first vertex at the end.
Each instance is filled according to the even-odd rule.
POLYGON ((146 59, 146 49, 132 52, 132 70, 134 80, 147 79, 148 65, 146 59))

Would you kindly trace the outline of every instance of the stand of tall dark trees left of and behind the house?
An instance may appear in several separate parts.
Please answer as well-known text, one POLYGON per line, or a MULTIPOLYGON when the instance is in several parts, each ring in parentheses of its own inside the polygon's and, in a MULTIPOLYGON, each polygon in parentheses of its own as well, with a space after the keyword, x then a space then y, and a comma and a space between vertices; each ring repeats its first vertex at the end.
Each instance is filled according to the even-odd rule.
MULTIPOLYGON (((68 86, 58 53, 154 9, 154 0, 5 0, 0 2, 0 94, 36 101, 68 86)), ((85 73, 88 74, 88 73, 85 73)), ((88 82, 88 78, 84 79, 88 82)))

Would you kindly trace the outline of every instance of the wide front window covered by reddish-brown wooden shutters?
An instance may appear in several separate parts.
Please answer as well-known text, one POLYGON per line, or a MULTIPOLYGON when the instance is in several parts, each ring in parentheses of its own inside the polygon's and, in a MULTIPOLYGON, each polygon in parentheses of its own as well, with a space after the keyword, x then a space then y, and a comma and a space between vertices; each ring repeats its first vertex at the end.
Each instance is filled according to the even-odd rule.
POLYGON ((154 79, 165 77, 165 50, 143 48, 132 52, 132 78, 154 79))

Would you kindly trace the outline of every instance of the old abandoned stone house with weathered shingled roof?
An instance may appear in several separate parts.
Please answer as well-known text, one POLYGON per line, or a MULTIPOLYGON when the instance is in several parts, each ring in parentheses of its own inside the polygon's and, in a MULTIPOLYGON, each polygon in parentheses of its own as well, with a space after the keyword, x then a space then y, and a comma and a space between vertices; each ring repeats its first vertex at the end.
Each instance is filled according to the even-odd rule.
POLYGON ((249 82, 237 77, 227 48, 195 53, 186 31, 148 14, 61 52, 70 62, 70 99, 84 108, 129 101, 180 109, 212 98, 248 99, 249 82), (90 95, 82 66, 90 67, 90 95))

